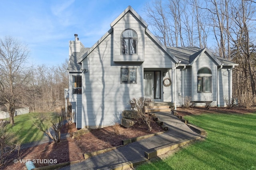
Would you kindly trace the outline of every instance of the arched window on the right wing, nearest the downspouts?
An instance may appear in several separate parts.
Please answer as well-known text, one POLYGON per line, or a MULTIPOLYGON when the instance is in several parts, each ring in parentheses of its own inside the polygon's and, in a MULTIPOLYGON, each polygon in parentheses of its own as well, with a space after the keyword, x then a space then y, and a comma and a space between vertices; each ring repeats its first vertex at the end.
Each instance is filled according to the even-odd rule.
POLYGON ((197 92, 212 92, 212 72, 207 67, 202 67, 197 72, 197 92))

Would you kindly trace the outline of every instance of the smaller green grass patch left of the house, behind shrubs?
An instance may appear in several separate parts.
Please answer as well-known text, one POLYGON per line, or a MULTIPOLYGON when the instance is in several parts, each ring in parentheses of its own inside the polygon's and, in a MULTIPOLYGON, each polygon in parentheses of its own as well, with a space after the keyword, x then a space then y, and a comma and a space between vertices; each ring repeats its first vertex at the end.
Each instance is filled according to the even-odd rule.
POLYGON ((8 125, 8 131, 15 133, 18 140, 23 143, 30 143, 42 139, 44 133, 33 125, 33 116, 38 113, 28 113, 14 117, 14 126, 8 125))

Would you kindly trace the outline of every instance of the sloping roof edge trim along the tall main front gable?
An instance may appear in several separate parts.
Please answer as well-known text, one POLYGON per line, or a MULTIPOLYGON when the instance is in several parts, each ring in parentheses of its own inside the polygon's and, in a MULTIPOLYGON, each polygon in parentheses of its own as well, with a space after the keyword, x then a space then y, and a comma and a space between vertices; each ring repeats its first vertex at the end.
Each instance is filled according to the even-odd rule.
POLYGON ((166 49, 166 47, 164 45, 162 45, 162 43, 160 43, 160 41, 148 30, 148 24, 138 15, 138 13, 136 11, 134 11, 134 9, 131 6, 128 6, 112 23, 110 23, 111 28, 108 30, 108 32, 106 32, 88 51, 86 51, 86 53, 84 53, 84 55, 82 55, 78 60, 77 63, 82 63, 82 61, 102 42, 104 41, 104 39, 110 35, 113 32, 113 27, 114 25, 120 21, 120 19, 122 19, 124 17, 124 15, 127 12, 132 12, 132 14, 134 14, 134 16, 136 18, 138 18, 138 20, 142 23, 142 25, 145 27, 146 33, 148 33, 148 35, 150 37, 152 37, 152 39, 154 39, 156 41, 156 43, 158 43, 158 45, 160 47, 162 47, 162 49, 164 51, 166 51, 166 53, 168 53, 168 55, 170 55, 170 57, 176 62, 176 63, 180 63, 178 59, 176 59, 176 57, 174 57, 174 55, 172 55, 172 53, 170 53, 170 51, 168 51, 168 49, 166 49))

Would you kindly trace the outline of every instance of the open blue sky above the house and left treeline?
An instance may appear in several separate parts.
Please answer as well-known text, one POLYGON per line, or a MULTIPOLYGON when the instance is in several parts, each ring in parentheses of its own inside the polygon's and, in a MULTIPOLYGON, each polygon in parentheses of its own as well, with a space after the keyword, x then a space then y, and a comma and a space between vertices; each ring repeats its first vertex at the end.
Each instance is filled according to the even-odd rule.
POLYGON ((0 0, 0 38, 12 36, 27 44, 29 64, 56 66, 68 59, 68 41, 75 33, 91 47, 129 5, 144 18, 146 2, 150 0, 0 0))

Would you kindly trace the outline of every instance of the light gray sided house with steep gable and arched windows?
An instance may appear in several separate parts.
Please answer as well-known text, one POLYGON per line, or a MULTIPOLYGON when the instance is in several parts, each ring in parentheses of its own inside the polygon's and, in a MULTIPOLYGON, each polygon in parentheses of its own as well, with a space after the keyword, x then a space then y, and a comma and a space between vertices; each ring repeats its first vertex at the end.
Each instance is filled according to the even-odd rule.
POLYGON ((91 48, 75 34, 69 41, 69 101, 77 128, 97 128, 120 121, 132 98, 152 98, 182 106, 191 96, 225 106, 232 98, 232 69, 237 64, 207 48, 165 47, 147 23, 128 6, 91 48))

